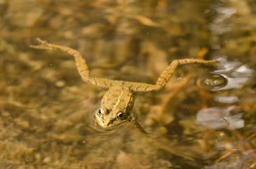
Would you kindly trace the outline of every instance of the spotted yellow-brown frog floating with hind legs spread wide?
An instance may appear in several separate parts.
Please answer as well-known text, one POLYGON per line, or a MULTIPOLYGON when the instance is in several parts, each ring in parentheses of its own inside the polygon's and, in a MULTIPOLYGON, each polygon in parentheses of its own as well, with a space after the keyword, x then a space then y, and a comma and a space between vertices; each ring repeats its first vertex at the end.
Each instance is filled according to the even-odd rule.
POLYGON ((129 121, 133 123, 140 131, 146 133, 141 125, 135 121, 135 118, 131 113, 134 102, 133 92, 151 92, 161 90, 172 77, 178 65, 185 65, 188 63, 211 65, 216 62, 216 60, 205 61, 202 59, 179 59, 170 63, 170 65, 158 77, 156 84, 119 81, 113 79, 91 77, 86 61, 83 59, 80 53, 73 48, 59 46, 57 44, 50 44, 44 40, 41 40, 40 38, 37 38, 36 40, 40 43, 40 45, 30 45, 30 47, 46 50, 61 50, 65 53, 69 53, 75 58, 75 65, 84 81, 92 83, 101 88, 108 89, 102 98, 100 108, 94 114, 96 127, 106 130, 114 129, 115 127, 129 121))

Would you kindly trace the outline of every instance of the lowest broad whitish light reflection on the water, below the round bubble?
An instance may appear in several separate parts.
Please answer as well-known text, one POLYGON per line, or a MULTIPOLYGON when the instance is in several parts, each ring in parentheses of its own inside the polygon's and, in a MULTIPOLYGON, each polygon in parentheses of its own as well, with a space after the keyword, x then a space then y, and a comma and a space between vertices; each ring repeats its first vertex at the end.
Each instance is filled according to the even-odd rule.
POLYGON ((197 112, 197 123, 205 129, 240 129, 245 126, 245 121, 243 113, 230 114, 235 108, 203 108, 197 112))

